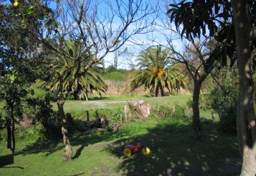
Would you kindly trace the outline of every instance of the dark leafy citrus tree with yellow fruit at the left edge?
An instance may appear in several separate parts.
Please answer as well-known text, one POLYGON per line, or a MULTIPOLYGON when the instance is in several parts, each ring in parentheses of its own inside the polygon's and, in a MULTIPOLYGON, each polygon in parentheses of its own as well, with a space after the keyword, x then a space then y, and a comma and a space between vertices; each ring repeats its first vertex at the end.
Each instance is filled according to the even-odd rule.
POLYGON ((27 59, 34 59, 38 32, 52 25, 47 1, 0 1, 0 99, 1 127, 7 130, 8 152, 15 152, 15 123, 22 118, 22 101, 28 85, 41 72, 35 72, 27 59))

